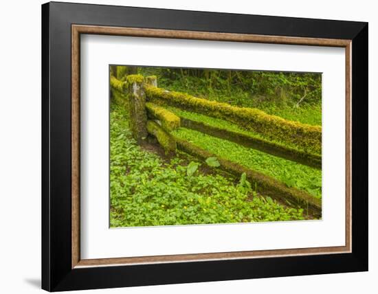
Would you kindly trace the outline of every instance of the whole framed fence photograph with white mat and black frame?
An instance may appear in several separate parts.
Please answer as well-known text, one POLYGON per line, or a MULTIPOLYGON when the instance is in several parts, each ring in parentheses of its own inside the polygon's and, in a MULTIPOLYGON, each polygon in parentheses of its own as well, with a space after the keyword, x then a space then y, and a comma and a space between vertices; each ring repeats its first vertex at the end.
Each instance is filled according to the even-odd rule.
POLYGON ((368 24, 42 5, 47 291, 368 270, 368 24))

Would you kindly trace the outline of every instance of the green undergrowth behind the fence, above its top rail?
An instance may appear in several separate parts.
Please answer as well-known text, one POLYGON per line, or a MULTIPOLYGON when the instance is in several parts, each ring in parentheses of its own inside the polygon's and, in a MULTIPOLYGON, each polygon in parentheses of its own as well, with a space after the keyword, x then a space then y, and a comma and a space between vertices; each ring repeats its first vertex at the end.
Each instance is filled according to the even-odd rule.
POLYGON ((294 122, 322 125, 321 79, 313 82, 311 74, 282 76, 282 73, 277 72, 255 72, 254 76, 251 73, 243 78, 241 74, 245 73, 241 71, 229 82, 224 77, 227 71, 222 73, 223 76, 214 71, 215 77, 210 84, 209 79, 190 76, 188 73, 178 74, 175 69, 138 67, 138 71, 145 76, 156 75, 158 87, 170 91, 190 93, 198 98, 235 106, 257 108, 294 122), (254 82, 248 85, 247 82, 251 83, 251 80, 254 82), (307 94, 297 93, 297 89, 307 89, 307 94), (310 99, 304 95, 313 97, 310 99), (302 102, 301 98, 304 98, 302 102))

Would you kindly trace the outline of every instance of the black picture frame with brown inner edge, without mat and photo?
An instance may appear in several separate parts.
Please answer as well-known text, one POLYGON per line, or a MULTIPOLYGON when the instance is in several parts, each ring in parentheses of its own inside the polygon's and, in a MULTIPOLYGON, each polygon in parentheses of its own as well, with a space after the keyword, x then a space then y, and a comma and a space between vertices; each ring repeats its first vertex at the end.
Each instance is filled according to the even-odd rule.
POLYGON ((368 24, 50 2, 42 5, 42 288, 100 289, 368 270, 368 24), (344 47, 346 243, 80 258, 80 35, 344 47))

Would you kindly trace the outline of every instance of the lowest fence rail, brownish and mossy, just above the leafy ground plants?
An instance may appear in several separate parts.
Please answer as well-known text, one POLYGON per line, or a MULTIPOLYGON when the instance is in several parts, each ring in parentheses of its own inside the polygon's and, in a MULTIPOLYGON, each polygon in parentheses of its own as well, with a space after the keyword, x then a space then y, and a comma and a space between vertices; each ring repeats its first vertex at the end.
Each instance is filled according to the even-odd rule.
MULTIPOLYGON (((177 144, 177 149, 182 150, 192 156, 198 157, 200 159, 207 159, 209 157, 217 157, 194 144, 175 137, 177 144)), ((305 212, 320 218, 322 216, 322 201, 321 199, 316 199, 315 197, 307 194, 302 190, 296 188, 289 188, 285 183, 282 183, 272 177, 269 177, 261 172, 251 170, 245 166, 241 166, 238 163, 234 163, 227 159, 222 159, 217 157, 219 163, 221 163, 222 170, 229 172, 230 174, 236 175, 236 177, 241 177, 241 174, 245 172, 247 179, 251 181, 253 185, 257 185, 258 192, 263 195, 270 196, 272 199, 281 201, 282 203, 291 203, 298 207, 302 207, 305 212)))

